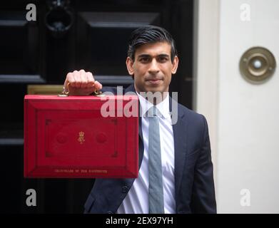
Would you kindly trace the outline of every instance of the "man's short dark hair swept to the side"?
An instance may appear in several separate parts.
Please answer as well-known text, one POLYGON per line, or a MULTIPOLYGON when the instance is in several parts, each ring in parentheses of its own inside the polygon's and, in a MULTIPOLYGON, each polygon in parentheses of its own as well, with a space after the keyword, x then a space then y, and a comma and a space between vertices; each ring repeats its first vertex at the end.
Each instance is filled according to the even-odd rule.
POLYGON ((167 42, 171 45, 171 62, 177 56, 176 44, 171 34, 165 28, 158 26, 143 26, 131 33, 128 41, 128 57, 135 61, 136 49, 146 43, 167 42))

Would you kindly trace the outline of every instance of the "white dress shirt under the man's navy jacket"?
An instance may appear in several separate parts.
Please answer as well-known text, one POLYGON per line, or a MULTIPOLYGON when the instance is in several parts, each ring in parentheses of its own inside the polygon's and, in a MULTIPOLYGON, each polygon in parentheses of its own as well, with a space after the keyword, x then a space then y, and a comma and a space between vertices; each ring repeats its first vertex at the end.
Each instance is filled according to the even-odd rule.
MULTIPOLYGON (((141 113, 146 113, 152 103, 148 102, 143 96, 138 94, 141 104, 141 113)), ((163 175, 163 198, 166 214, 176 213, 176 200, 174 189, 174 142, 173 126, 171 125, 171 115, 169 111, 169 95, 158 105, 160 140, 161 140, 161 159, 163 175)), ((148 214, 148 117, 142 115, 141 128, 143 132, 143 160, 138 172, 138 178, 133 182, 122 204, 118 208, 118 214, 148 214)))

